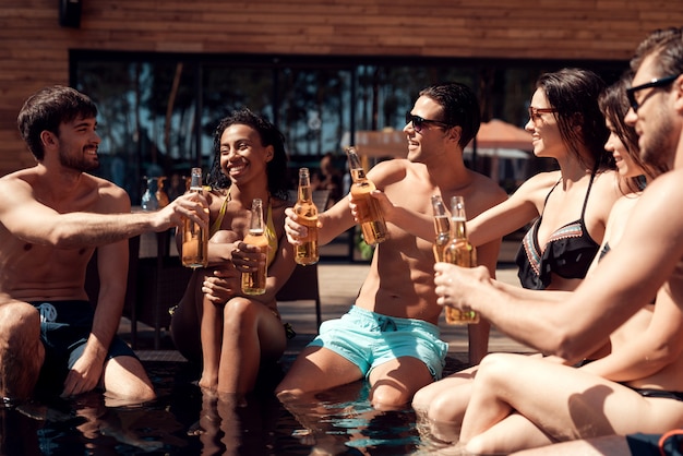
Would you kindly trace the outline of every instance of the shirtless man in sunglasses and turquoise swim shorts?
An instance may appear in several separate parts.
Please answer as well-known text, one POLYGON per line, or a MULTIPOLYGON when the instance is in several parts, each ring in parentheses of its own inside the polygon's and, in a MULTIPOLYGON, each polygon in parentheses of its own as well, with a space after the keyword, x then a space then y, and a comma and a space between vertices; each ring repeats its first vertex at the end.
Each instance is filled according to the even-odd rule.
MULTIPOLYGON (((406 116, 407 159, 378 164, 368 172, 380 191, 404 208, 431 216, 431 196, 463 195, 468 217, 504 201, 491 179, 465 166, 463 149, 477 134, 479 104, 471 89, 450 83, 420 92, 406 116)), ((360 149, 362 153, 362 148, 360 149)), ((352 202, 351 202, 352 203, 352 202)), ((287 212, 287 237, 300 242, 305 227, 287 212)), ((398 217, 398 215, 396 215, 398 217)), ((394 218, 396 219, 396 218, 394 218)), ((319 241, 329 242, 355 225, 349 200, 320 215, 319 241)), ((433 286, 432 244, 388 225, 390 239, 374 252, 368 278, 355 305, 340 320, 323 323, 320 335, 298 357, 276 388, 283 400, 367 377, 376 408, 409 403, 420 387, 442 375, 447 344, 440 340, 442 309, 433 286)), ((494 274, 500 240, 478 248, 479 264, 494 274)), ((488 323, 472 326, 470 361, 488 348, 488 323)))

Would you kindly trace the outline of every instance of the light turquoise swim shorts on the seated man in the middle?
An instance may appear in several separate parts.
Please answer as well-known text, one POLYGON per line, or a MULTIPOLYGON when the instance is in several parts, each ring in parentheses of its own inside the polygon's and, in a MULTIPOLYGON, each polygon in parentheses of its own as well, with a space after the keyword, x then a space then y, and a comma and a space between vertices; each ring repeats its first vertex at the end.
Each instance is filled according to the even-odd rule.
POLYGON ((320 335, 309 346, 343 356, 366 376, 393 359, 417 358, 436 381, 448 351, 448 344, 439 338, 440 334, 439 326, 421 320, 385 316, 354 305, 340 319, 324 322, 320 335))

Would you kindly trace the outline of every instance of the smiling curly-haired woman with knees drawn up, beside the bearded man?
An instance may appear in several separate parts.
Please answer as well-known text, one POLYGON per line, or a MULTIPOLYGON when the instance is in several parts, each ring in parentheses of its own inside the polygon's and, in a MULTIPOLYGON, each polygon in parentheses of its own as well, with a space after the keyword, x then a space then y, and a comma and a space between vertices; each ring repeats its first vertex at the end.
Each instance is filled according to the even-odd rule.
POLYGON ((223 395, 243 395, 256 383, 265 361, 276 361, 287 344, 275 295, 295 268, 285 240, 287 154, 283 134, 249 109, 224 118, 214 134, 214 164, 207 194, 212 226, 209 266, 196 269, 171 317, 180 352, 201 363, 199 385, 223 395), (264 205, 267 259, 254 257, 242 242, 249 232, 251 205, 264 205), (241 290, 244 266, 267 261, 266 292, 241 290))

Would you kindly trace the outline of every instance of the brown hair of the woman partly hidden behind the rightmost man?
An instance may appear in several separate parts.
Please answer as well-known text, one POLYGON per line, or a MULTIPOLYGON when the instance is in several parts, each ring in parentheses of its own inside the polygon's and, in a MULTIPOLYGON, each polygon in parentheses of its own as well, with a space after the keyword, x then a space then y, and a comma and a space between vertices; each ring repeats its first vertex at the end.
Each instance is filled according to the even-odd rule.
MULTIPOLYGON (((654 179, 656 176, 664 172, 666 169, 655 169, 643 161, 638 152, 638 134, 632 125, 626 124, 624 121, 626 112, 628 112, 631 108, 628 99, 626 98, 626 88, 631 86, 632 79, 632 73, 624 74, 619 81, 607 87, 602 94, 600 94, 598 105, 604 117, 612 124, 614 133, 616 133, 621 140, 631 159, 644 170, 648 179, 654 179)), ((642 185, 643 182, 639 177, 630 178, 626 181, 626 187, 630 192, 642 190, 642 185)))

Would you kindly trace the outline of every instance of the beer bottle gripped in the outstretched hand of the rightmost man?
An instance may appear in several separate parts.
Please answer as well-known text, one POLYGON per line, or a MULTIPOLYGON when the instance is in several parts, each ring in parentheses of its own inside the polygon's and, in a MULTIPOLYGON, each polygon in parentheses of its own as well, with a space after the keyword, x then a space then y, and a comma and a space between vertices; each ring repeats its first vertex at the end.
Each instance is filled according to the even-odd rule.
MULTIPOLYGON (((465 216, 465 199, 453 196, 451 200, 451 240, 444 250, 444 260, 463 267, 477 265, 477 250, 467 239, 467 217, 465 216)), ((475 311, 462 311, 445 307, 446 323, 469 324, 479 323, 479 315, 475 311)))

